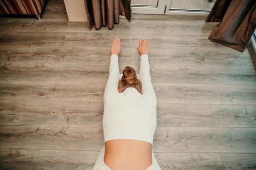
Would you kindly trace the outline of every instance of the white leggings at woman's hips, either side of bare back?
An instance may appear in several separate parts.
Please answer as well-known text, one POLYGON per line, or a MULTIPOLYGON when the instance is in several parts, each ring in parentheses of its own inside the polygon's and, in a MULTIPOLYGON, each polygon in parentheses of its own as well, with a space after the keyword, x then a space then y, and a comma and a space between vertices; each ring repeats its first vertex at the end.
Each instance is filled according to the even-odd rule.
MULTIPOLYGON (((101 148, 98 154, 98 158, 96 160, 96 163, 94 164, 93 170, 111 170, 104 163, 104 155, 105 155, 105 144, 103 145, 103 147, 101 148)), ((152 165, 149 166, 146 170, 161 170, 153 151, 152 151, 152 165)))

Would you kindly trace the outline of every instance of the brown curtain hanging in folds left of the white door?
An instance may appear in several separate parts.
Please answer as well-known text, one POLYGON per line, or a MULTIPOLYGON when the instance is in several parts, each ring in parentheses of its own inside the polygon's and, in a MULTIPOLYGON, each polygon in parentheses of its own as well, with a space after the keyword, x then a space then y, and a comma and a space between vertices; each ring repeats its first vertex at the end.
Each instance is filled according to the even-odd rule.
POLYGON ((131 0, 84 0, 89 28, 108 25, 112 29, 119 23, 119 15, 131 20, 131 0))

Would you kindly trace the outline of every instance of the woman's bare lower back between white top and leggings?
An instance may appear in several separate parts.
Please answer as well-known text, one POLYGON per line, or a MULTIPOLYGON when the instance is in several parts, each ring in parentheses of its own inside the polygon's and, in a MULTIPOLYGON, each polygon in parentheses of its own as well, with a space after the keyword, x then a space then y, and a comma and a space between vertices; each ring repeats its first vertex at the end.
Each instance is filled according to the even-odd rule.
POLYGON ((111 170, 146 170, 152 165, 152 144, 131 139, 108 140, 104 163, 111 170))

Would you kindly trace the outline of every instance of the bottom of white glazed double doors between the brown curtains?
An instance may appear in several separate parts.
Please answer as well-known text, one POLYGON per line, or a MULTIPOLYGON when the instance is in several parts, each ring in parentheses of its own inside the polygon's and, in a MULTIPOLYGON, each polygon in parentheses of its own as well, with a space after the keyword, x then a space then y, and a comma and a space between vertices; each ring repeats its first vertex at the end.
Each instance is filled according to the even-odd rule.
POLYGON ((209 13, 215 0, 132 0, 132 14, 209 13))

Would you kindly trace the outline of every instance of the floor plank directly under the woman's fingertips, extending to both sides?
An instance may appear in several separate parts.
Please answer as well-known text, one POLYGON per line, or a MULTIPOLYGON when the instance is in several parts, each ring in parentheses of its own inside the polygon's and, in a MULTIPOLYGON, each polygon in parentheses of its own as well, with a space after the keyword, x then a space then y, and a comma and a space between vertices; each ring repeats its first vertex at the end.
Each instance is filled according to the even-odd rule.
POLYGON ((119 37, 122 47, 138 46, 141 38, 149 40, 151 49, 195 49, 197 48, 196 35, 177 35, 170 37, 165 34, 135 34, 135 33, 75 33, 68 32, 65 39, 65 46, 83 45, 88 47, 106 46, 110 47, 115 37, 119 37))

